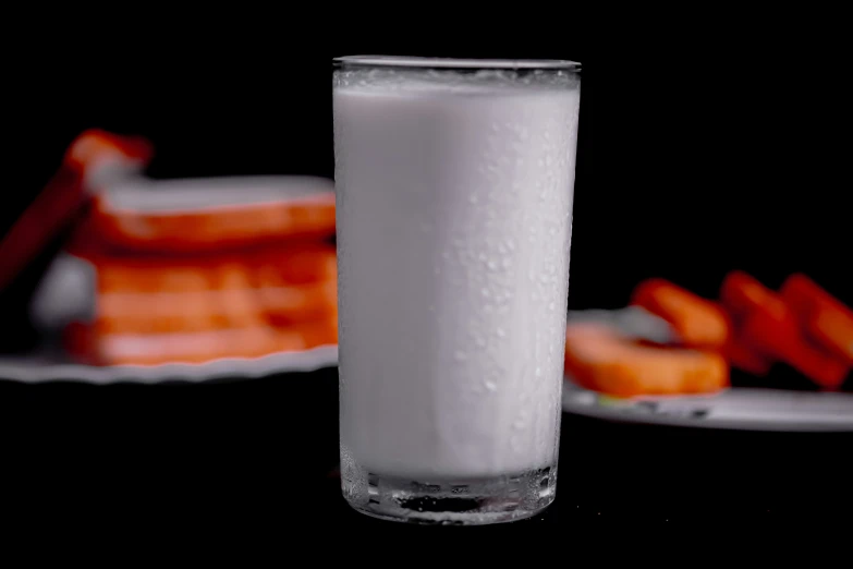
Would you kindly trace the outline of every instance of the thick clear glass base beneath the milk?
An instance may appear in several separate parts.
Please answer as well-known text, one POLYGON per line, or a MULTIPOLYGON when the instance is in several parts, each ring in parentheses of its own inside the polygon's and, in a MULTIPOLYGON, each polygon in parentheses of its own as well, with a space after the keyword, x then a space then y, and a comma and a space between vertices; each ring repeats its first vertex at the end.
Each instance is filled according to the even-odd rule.
MULTIPOLYGON (((354 467, 354 468, 353 468, 354 467)), ((383 520, 482 525, 523 520, 557 494, 557 468, 476 480, 413 481, 342 468, 343 496, 355 510, 383 520)))

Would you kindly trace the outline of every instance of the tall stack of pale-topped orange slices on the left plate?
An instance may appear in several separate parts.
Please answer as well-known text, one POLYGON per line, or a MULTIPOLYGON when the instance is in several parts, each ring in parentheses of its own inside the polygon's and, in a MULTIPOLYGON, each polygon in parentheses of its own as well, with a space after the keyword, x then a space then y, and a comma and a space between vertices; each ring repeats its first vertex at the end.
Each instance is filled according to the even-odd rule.
POLYGON ((150 150, 97 131, 68 152, 63 171, 94 198, 77 208, 65 252, 96 275, 89 317, 65 329, 68 352, 153 365, 337 343, 331 180, 149 180, 136 170, 150 150))

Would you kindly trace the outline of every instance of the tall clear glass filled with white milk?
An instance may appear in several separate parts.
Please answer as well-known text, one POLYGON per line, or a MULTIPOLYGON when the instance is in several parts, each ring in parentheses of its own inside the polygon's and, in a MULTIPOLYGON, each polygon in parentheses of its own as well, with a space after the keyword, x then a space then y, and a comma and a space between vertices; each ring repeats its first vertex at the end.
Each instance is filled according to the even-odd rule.
POLYGON ((364 513, 555 498, 581 65, 334 61, 341 474, 364 513))

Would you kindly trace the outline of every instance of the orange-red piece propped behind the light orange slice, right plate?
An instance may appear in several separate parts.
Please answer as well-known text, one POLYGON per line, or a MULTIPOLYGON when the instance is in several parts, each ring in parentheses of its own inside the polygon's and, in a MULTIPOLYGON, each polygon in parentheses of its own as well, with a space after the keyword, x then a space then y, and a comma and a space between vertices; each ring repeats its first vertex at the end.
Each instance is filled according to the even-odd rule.
POLYGON ((729 341, 726 313, 714 302, 669 281, 649 279, 639 283, 631 303, 670 323, 691 348, 720 348, 729 341))

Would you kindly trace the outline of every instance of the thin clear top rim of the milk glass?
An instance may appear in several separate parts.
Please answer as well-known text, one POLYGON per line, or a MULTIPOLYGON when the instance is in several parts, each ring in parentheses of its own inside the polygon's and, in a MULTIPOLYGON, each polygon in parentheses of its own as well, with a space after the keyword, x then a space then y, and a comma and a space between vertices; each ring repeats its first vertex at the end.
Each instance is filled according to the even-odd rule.
POLYGON ((580 72, 581 63, 564 59, 476 59, 427 58, 414 56, 343 56, 333 58, 336 66, 441 69, 456 71, 571 71, 580 72))

